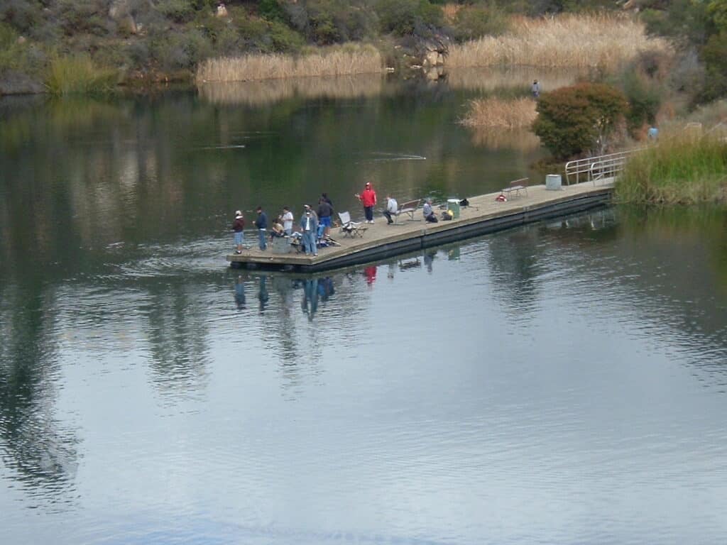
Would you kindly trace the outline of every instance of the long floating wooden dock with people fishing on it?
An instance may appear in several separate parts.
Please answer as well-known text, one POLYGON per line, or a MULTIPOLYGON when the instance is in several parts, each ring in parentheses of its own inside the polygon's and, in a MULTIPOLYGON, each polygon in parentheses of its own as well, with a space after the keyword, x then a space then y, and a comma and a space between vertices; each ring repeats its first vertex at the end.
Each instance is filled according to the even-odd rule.
MULTIPOLYGON (((466 196, 469 206, 462 207, 459 218, 449 221, 440 219, 438 223, 425 222, 419 209, 414 213, 413 220, 402 214, 394 225, 387 225, 386 218, 378 211, 374 216, 376 223, 361 224, 366 230, 360 237, 345 235, 339 232, 338 227, 332 227, 330 235, 339 246, 320 248, 317 257, 294 250, 281 253, 279 246, 270 244, 268 249, 260 251, 257 249, 255 233, 247 239, 247 243, 254 245, 251 249, 243 250, 242 254, 229 254, 227 260, 232 267, 295 273, 349 267, 604 206, 611 201, 613 182, 611 179, 601 180, 598 185, 583 182, 563 185, 559 190, 546 189, 545 185, 531 185, 527 187, 527 192, 521 190, 518 195, 511 193, 513 195, 505 202, 496 200, 499 192, 476 197, 462 195, 460 198, 466 196)), ((435 212, 438 217, 441 216, 436 206, 435 212)), ((300 217, 296 218, 294 225, 299 221, 300 217)), ((286 244, 284 249, 287 250, 288 246, 286 244)))

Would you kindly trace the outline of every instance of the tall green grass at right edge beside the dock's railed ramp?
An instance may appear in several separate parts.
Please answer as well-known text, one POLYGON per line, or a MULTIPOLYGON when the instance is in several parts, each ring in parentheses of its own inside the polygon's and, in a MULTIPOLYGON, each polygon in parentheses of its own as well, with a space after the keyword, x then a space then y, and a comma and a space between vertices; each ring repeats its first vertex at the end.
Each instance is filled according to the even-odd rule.
POLYGON ((727 142, 714 132, 662 137, 629 160, 614 197, 622 203, 727 203, 727 142))

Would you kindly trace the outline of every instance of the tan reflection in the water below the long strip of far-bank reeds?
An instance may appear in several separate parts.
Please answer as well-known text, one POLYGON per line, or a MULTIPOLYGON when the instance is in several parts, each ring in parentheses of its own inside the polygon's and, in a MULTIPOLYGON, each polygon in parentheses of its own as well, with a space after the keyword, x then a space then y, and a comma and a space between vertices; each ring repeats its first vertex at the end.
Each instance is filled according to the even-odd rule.
POLYGON ((358 74, 335 78, 286 78, 263 81, 226 81, 200 84, 201 97, 213 104, 259 106, 294 95, 304 98, 361 98, 382 94, 384 79, 379 74, 358 74))

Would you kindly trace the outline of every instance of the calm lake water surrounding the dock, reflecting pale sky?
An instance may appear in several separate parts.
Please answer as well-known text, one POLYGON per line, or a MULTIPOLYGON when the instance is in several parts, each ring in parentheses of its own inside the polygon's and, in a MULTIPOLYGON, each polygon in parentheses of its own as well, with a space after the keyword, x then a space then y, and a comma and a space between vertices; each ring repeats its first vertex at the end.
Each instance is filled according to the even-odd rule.
POLYGON ((725 209, 224 260, 237 208, 541 176, 456 123, 531 76, 0 100, 0 543, 727 541, 725 209))

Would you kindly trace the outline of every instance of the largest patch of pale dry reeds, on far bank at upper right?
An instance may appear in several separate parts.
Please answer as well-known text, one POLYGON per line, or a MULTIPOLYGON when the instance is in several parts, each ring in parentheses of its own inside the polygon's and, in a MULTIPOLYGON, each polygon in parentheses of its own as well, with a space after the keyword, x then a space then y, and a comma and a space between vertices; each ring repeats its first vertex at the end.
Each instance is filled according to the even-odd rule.
POLYGON ((643 52, 672 54, 664 39, 646 36, 644 26, 624 15, 517 17, 503 36, 454 46, 447 66, 529 65, 614 70, 643 52))

